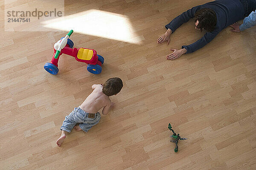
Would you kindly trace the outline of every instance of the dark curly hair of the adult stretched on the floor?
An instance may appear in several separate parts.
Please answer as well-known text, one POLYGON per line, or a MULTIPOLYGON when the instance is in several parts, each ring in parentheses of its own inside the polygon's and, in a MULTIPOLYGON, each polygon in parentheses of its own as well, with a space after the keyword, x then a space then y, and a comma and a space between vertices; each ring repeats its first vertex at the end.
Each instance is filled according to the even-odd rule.
POLYGON ((205 29, 208 32, 214 30, 217 23, 217 16, 215 11, 210 8, 202 8, 195 13, 195 22, 198 20, 196 26, 201 31, 205 29))

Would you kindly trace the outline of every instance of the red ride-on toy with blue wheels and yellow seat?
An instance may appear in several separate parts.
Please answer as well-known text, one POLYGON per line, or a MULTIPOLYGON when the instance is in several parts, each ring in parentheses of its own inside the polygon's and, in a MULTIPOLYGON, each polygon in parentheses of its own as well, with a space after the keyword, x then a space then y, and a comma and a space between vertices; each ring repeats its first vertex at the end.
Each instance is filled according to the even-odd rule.
POLYGON ((102 64, 104 63, 104 58, 97 54, 93 49, 89 48, 73 48, 74 43, 69 39, 70 35, 73 33, 73 30, 70 30, 69 33, 62 37, 61 40, 58 40, 54 44, 54 53, 52 56, 51 62, 47 62, 44 65, 44 69, 50 74, 58 73, 58 59, 61 54, 67 54, 75 57, 79 62, 87 63, 87 71, 92 74, 100 74, 102 72, 102 64))

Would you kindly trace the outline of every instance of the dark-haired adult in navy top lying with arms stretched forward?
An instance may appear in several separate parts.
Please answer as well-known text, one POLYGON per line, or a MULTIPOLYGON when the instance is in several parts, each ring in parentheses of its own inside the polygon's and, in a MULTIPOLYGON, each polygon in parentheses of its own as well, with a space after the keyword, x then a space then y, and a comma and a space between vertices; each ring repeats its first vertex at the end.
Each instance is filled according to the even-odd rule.
POLYGON ((204 5, 195 6, 183 12, 166 25, 166 33, 158 38, 157 43, 170 42, 171 34, 183 23, 195 19, 195 29, 206 30, 204 37, 190 45, 182 45, 181 49, 170 49, 173 53, 167 59, 177 59, 183 54, 192 53, 207 45, 216 35, 233 23, 247 17, 256 10, 256 0, 215 0, 204 5))

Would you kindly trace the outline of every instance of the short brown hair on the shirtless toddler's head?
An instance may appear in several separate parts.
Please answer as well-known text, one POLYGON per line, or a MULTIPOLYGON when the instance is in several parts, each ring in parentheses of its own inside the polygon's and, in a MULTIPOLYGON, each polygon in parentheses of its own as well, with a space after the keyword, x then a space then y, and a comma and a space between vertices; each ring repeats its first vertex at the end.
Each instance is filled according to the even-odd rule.
POLYGON ((123 87, 122 80, 118 77, 108 79, 102 88, 102 92, 107 96, 118 94, 123 87))

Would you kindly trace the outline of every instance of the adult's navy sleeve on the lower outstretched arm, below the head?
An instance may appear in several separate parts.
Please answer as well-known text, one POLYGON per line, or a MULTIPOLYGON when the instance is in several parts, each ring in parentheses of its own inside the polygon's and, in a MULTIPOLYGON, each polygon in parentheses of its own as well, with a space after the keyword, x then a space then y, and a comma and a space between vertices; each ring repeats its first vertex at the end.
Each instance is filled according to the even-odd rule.
POLYGON ((212 32, 207 32, 201 39, 197 40, 196 42, 190 45, 182 45, 182 48, 186 48, 186 54, 197 51, 198 49, 204 47, 204 45, 207 45, 207 43, 209 43, 211 40, 213 40, 218 33, 219 32, 217 29, 215 29, 212 32))

